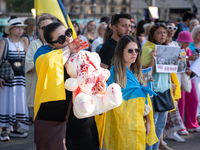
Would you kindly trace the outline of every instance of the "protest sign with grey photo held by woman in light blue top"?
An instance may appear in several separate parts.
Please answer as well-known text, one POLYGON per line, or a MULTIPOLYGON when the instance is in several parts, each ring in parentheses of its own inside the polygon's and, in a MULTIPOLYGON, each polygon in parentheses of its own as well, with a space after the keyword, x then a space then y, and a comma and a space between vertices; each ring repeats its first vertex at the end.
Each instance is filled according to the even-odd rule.
POLYGON ((156 72, 177 73, 180 48, 165 45, 156 45, 156 50, 156 72))

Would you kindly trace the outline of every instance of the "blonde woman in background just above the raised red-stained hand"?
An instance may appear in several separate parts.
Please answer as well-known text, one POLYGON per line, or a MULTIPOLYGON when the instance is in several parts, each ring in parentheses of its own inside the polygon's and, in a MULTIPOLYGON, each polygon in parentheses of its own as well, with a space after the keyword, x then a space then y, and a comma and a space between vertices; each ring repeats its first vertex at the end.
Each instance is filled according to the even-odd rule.
POLYGON ((91 51, 92 42, 97 38, 95 28, 96 28, 96 23, 94 20, 90 20, 86 25, 84 36, 87 38, 88 43, 89 43, 89 48, 87 49, 88 51, 91 51))

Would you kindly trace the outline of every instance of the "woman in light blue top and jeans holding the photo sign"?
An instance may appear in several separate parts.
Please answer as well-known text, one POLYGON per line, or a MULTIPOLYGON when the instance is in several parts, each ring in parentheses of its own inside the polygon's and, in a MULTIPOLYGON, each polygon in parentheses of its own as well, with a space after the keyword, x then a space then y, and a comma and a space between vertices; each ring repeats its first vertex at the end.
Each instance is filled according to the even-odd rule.
MULTIPOLYGON (((155 49, 155 46, 156 44, 167 45, 167 35, 168 35, 168 30, 164 24, 156 23, 155 25, 152 26, 149 32, 148 41, 142 47, 141 62, 143 68, 152 67, 153 91, 155 91, 156 94, 160 95, 160 98, 162 97, 163 100, 172 101, 171 91, 170 91, 171 89, 170 73, 158 73, 156 72, 156 67, 155 67, 155 57, 157 56, 157 51, 155 49)), ((152 146, 147 145, 146 150, 158 149, 168 114, 168 111, 163 111, 163 112, 155 111, 154 97, 155 95, 153 96, 153 98, 151 98, 151 101, 153 104, 156 135, 159 141, 152 146)), ((163 146, 165 146, 166 149, 167 148, 170 149, 166 145, 163 146)), ((163 147, 160 148, 162 149, 163 147)))

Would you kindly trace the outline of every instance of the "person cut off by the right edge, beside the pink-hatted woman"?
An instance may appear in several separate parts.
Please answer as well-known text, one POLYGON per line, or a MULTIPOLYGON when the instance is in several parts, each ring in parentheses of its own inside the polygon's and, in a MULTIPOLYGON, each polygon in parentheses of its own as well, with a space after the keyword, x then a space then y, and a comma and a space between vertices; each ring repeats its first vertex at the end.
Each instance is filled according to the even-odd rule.
MULTIPOLYGON (((189 48, 191 49, 193 54, 199 55, 200 53, 200 25, 195 26, 191 34, 192 34, 192 39, 194 40, 194 42, 190 43, 189 48)), ((200 100, 200 77, 195 76, 193 78, 193 81, 196 87, 198 99, 200 100)), ((198 108, 197 108, 197 120, 200 125, 200 102, 198 103, 198 108)))

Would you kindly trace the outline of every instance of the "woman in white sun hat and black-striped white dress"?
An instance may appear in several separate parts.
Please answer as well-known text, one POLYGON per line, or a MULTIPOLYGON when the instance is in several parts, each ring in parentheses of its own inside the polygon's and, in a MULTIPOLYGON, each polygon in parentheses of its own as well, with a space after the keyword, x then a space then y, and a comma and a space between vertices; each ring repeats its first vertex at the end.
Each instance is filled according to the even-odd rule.
POLYGON ((0 140, 9 141, 7 128, 11 130, 10 137, 26 137, 28 133, 28 108, 26 107, 26 85, 23 71, 25 47, 20 41, 24 25, 19 18, 11 17, 5 33, 9 36, 0 42, 0 60, 3 59, 4 47, 8 44, 6 58, 14 71, 14 79, 4 81, 0 78, 0 140))

